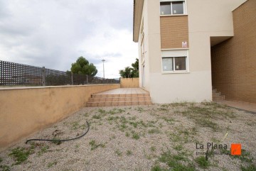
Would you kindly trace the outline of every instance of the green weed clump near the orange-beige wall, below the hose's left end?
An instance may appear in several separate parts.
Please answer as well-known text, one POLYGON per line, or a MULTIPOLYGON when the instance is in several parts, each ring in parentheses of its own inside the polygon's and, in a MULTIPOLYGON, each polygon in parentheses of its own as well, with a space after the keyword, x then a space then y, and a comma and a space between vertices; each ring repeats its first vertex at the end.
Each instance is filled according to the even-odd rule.
POLYGON ((12 156, 16 161, 14 165, 20 165, 22 162, 25 162, 28 159, 28 156, 33 153, 33 148, 14 148, 9 153, 9 156, 12 156))

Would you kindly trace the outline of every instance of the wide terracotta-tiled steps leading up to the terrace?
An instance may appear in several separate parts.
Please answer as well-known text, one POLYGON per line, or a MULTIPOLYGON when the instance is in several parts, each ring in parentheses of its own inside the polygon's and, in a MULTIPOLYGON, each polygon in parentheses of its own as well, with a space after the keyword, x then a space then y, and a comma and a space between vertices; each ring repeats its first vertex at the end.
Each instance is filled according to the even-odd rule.
POLYGON ((150 105, 151 97, 146 94, 92 94, 87 107, 150 105))

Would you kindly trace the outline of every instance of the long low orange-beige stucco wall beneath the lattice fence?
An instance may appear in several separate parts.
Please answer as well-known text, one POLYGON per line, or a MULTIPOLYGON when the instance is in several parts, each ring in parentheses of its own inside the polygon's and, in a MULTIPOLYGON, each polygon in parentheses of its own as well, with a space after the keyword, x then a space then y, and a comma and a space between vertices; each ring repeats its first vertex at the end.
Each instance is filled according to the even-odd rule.
POLYGON ((120 84, 0 89, 0 150, 85 107, 91 94, 120 84))

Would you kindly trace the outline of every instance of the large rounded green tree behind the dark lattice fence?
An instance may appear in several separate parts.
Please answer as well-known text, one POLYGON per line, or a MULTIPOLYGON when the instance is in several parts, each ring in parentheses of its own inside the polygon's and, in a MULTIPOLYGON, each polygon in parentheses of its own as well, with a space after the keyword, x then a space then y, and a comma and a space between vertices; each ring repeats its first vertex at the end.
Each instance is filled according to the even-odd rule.
POLYGON ((71 72, 80 74, 80 75, 97 75, 97 69, 95 65, 89 63, 85 57, 78 57, 78 60, 71 65, 71 72))

